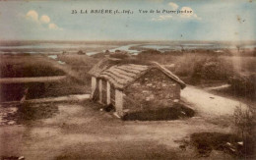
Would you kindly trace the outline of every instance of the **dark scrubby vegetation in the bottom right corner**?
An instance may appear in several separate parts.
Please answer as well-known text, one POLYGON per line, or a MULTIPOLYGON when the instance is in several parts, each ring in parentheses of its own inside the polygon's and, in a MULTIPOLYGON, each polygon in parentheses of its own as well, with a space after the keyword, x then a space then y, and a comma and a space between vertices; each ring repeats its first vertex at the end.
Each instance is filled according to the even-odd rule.
MULTIPOLYGON (((193 133, 191 142, 200 156, 209 156, 212 150, 222 150, 239 158, 255 156, 255 111, 236 107, 233 114, 234 133, 193 133)), ((254 157, 255 158, 255 157, 254 157)))

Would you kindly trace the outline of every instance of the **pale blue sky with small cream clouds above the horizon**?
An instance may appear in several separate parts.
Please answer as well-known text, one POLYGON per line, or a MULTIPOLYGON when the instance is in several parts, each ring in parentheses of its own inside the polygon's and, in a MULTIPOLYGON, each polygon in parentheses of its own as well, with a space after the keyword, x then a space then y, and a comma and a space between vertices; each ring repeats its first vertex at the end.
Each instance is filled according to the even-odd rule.
POLYGON ((0 1, 1 40, 256 40, 255 30, 256 0, 0 1), (133 14, 71 14, 91 9, 133 14))

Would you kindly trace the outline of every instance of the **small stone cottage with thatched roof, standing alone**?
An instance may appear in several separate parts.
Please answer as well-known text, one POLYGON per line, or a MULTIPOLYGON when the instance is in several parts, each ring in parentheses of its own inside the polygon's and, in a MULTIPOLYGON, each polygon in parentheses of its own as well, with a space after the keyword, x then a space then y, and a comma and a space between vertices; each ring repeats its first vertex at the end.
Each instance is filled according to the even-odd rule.
POLYGON ((180 98, 186 84, 158 63, 124 64, 102 60, 89 72, 91 97, 104 105, 113 105, 118 116, 124 111, 169 107, 180 98))

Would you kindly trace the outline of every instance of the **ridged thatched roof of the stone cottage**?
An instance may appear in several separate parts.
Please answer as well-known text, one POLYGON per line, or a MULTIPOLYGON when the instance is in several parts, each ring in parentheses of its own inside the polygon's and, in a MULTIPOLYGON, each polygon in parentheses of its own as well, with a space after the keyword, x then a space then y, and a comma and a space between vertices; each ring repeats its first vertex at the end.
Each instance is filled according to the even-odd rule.
POLYGON ((119 64, 116 61, 103 60, 89 72, 96 78, 108 80, 115 88, 123 89, 133 83, 135 80, 142 77, 151 69, 159 69, 160 72, 165 74, 169 79, 176 81, 184 88, 186 84, 179 80, 178 77, 173 75, 170 71, 160 66, 160 64, 153 62, 152 65, 135 65, 135 64, 119 64))

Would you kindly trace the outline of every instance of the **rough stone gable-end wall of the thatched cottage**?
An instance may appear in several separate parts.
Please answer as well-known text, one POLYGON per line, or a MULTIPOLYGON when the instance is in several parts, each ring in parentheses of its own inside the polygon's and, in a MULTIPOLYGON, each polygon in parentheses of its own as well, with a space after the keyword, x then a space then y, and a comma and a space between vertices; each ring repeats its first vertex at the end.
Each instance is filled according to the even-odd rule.
POLYGON ((124 90, 124 108, 132 110, 169 107, 180 97, 180 85, 152 69, 124 90))

